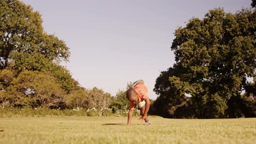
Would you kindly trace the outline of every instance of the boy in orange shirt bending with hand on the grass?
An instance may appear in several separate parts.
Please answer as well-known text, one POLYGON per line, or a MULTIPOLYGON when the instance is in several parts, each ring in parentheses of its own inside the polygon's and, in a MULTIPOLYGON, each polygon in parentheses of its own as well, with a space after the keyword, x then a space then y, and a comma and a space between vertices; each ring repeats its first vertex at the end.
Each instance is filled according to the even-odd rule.
POLYGON ((135 104, 138 105, 139 109, 141 110, 141 119, 146 122, 146 125, 149 125, 150 122, 148 121, 148 110, 150 106, 150 101, 148 99, 148 88, 145 85, 143 80, 138 80, 133 83, 132 87, 126 91, 126 97, 130 101, 130 109, 128 113, 128 121, 127 125, 131 124, 132 113, 134 110, 135 104))

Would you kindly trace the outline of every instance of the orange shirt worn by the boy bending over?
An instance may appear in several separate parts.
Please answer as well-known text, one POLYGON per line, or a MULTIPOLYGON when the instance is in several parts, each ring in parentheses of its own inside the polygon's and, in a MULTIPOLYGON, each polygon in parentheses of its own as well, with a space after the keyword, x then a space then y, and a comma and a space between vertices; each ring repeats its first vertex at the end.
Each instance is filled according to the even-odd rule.
MULTIPOLYGON (((133 87, 138 95, 138 103, 148 98, 148 88, 144 83, 137 83, 135 87, 133 87)), ((134 109, 133 103, 130 102, 130 110, 134 109)))

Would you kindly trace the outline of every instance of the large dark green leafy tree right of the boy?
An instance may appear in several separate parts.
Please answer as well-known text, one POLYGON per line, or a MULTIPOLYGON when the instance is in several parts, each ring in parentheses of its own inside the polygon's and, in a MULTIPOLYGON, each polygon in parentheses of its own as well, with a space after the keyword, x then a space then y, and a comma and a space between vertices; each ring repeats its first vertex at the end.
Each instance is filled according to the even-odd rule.
MULTIPOLYGON (((219 8, 176 29, 171 50, 176 58, 173 69, 179 74, 168 77, 168 88, 175 91, 165 97, 185 100, 198 118, 224 117, 230 99, 241 97, 246 78, 255 79, 255 28, 254 10, 231 14, 219 8)), ((160 88, 156 85, 155 91, 160 88)), ((232 112, 226 117, 234 117, 232 112)))

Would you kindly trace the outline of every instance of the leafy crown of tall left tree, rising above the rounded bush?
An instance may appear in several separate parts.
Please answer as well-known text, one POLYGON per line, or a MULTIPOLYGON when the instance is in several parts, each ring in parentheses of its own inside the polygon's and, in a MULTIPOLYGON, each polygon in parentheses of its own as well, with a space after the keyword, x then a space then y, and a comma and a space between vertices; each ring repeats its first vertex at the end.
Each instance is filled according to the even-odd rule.
POLYGON ((50 62, 68 61, 69 48, 43 31, 40 14, 18 0, 0 0, 0 69, 11 63, 40 70, 50 62))

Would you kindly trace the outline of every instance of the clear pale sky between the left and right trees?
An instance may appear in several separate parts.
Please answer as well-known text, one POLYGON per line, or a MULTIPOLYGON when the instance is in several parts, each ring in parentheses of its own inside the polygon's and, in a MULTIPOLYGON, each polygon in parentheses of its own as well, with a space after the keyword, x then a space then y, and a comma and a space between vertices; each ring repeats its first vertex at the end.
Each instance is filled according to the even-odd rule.
POLYGON ((113 96, 129 81, 142 79, 153 92, 160 71, 174 63, 170 47, 174 30, 192 17, 223 7, 235 13, 251 0, 22 0, 42 14, 44 31, 70 47, 63 63, 85 88, 113 96))

